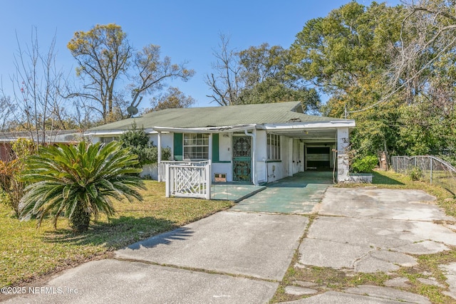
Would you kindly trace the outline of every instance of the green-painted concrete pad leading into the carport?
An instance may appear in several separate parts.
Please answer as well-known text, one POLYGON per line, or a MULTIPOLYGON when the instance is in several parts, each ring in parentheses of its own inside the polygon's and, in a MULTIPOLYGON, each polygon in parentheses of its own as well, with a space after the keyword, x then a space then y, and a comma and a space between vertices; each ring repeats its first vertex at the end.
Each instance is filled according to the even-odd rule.
POLYGON ((326 189, 333 184, 333 172, 306 171, 269 183, 263 191, 232 207, 236 211, 309 214, 326 189))

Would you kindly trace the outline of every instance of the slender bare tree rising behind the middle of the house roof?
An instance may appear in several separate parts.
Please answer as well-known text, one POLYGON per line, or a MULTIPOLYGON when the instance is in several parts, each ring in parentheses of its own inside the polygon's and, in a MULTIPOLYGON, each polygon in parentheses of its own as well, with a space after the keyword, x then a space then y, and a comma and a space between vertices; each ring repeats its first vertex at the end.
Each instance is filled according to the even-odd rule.
POLYGON ((206 75, 206 84, 212 90, 207 97, 219 105, 236 105, 242 103, 242 67, 237 52, 229 49, 229 37, 224 34, 219 37, 219 49, 213 52, 216 58, 212 63, 214 73, 206 75))

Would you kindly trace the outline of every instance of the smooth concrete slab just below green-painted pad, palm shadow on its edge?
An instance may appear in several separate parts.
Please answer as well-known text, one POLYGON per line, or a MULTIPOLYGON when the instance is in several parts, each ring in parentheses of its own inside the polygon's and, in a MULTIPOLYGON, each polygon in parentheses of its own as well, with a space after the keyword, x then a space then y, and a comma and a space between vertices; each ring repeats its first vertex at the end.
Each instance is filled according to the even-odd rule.
POLYGON ((222 211, 115 256, 280 281, 307 222, 305 216, 222 211))

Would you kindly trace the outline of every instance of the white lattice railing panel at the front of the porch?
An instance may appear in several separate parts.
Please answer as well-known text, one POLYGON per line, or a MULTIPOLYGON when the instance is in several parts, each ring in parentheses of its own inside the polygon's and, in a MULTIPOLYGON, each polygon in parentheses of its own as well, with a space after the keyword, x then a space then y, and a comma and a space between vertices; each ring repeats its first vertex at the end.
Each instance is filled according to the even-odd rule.
POLYGON ((211 198, 211 163, 166 162, 166 197, 211 198))

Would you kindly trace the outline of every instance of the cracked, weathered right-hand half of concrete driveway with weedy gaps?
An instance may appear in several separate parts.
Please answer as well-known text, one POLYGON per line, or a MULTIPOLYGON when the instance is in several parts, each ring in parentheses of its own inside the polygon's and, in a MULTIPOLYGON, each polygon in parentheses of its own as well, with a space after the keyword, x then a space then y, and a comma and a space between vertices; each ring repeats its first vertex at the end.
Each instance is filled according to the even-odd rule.
MULTIPOLYGON (((421 255, 456 245, 456 221, 432 204, 434 200, 419 190, 329 188, 294 267, 332 268, 346 276, 384 273, 390 279, 384 287, 358 285, 338 292, 314 286, 318 295, 293 303, 430 303, 423 295, 403 291, 411 282, 395 271, 418 266, 421 255)), ((417 274, 418 281, 442 288, 448 296, 445 303, 456 301, 456 263, 439 267, 448 288, 424 270, 417 274)))

